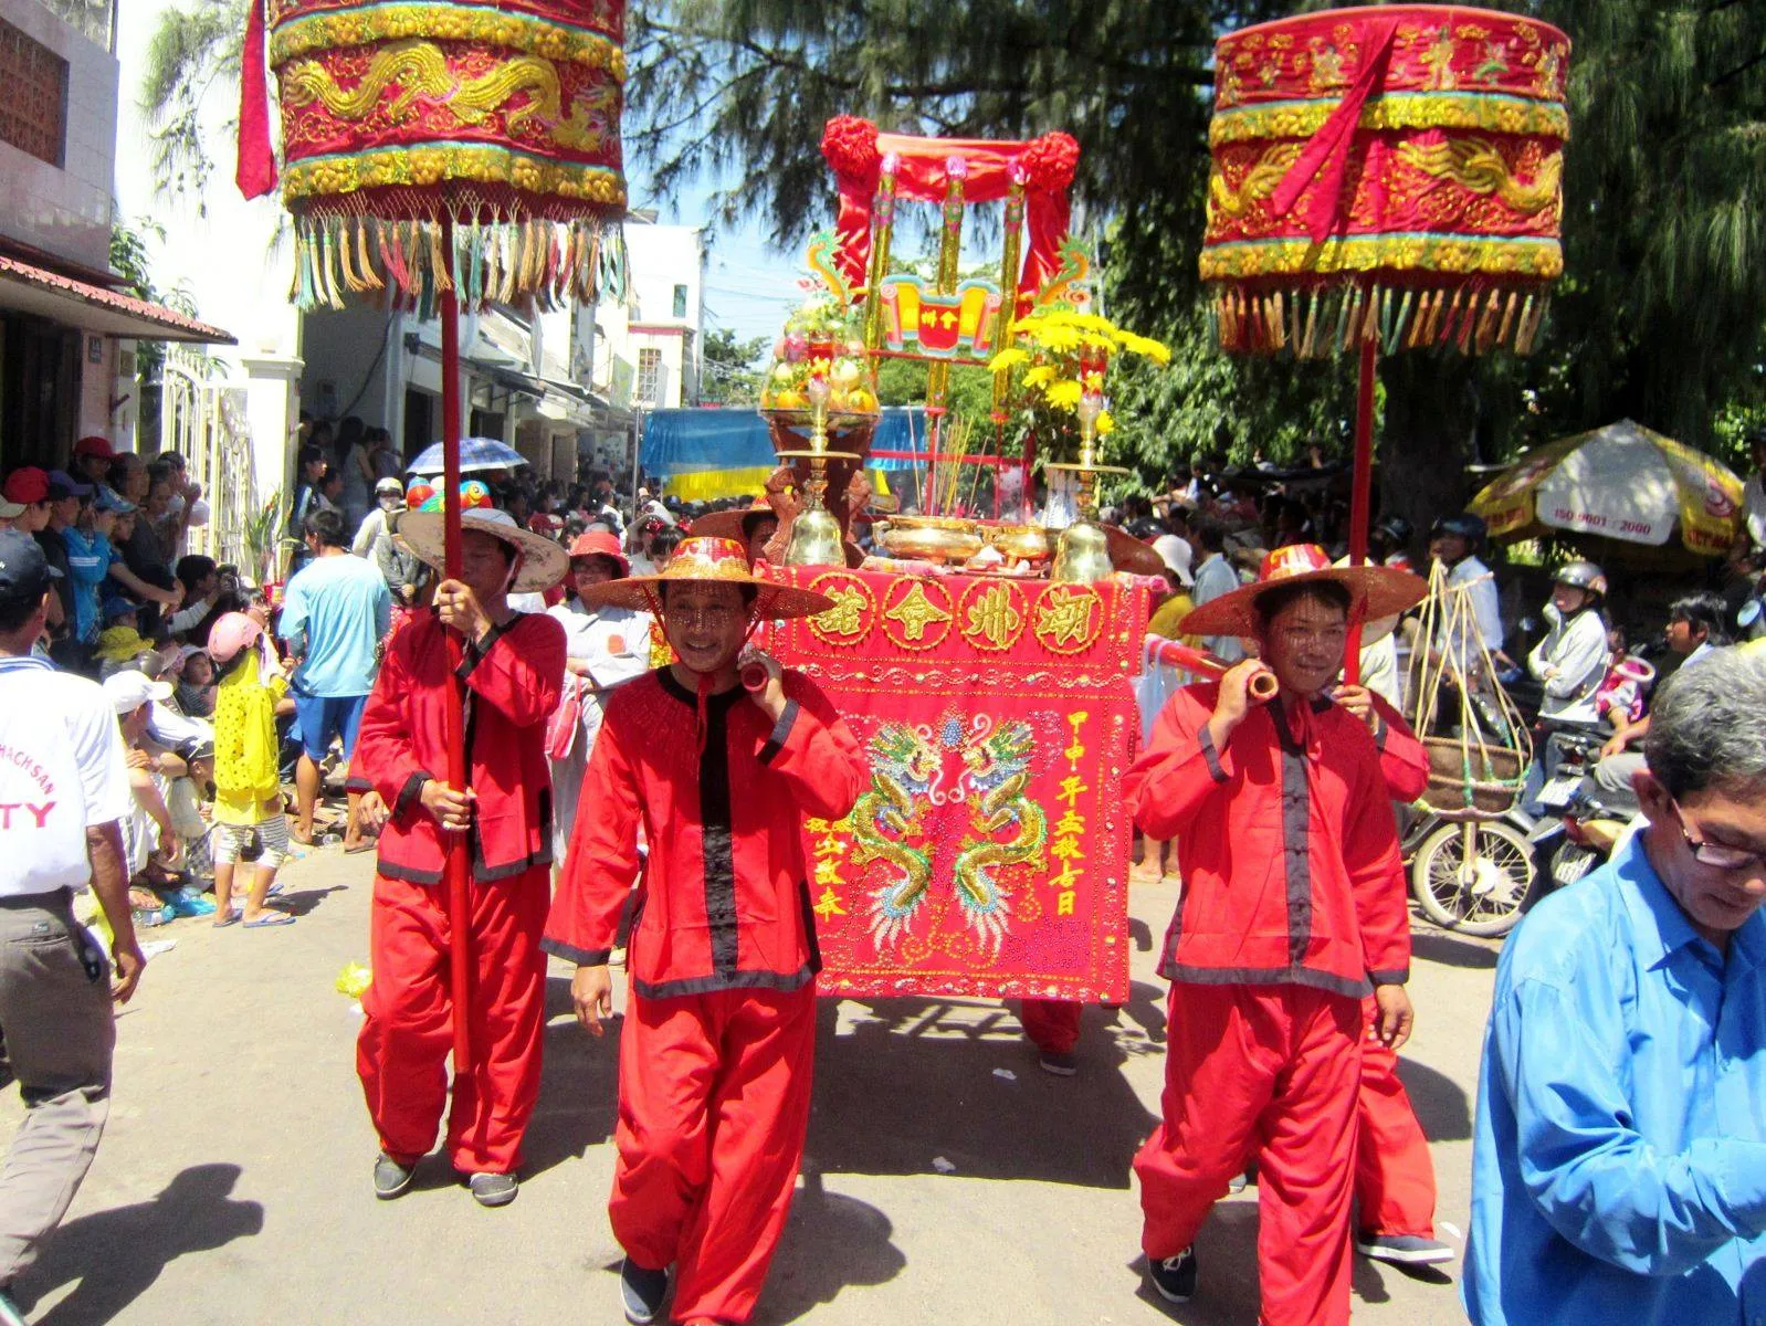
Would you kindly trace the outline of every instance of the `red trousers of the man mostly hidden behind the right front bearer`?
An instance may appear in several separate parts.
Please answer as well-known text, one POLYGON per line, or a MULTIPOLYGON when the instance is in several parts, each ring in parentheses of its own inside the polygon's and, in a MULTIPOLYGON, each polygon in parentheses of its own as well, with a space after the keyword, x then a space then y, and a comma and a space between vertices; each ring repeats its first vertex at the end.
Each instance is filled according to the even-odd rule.
MULTIPOLYGON (((1362 1001, 1372 1022, 1372 998, 1362 1001)), ((1355 1201, 1362 1229, 1434 1238, 1434 1160, 1416 1111, 1399 1081, 1399 1056, 1362 1042, 1362 1089, 1355 1104, 1355 1201)))

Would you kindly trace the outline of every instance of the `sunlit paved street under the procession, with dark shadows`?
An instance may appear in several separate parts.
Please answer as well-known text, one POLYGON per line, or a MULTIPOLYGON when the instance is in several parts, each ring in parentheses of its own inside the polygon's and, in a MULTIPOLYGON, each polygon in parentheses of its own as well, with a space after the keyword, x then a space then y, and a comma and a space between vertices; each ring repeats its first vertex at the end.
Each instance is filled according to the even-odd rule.
MULTIPOLYGON (((334 989, 366 959, 371 870, 336 848, 293 863, 302 918, 281 930, 143 932, 177 946, 118 1022, 104 1146, 18 1285, 34 1322, 620 1321, 615 1043, 576 1028, 563 968, 521 1199, 482 1211, 434 1160, 419 1190, 373 1199, 360 1013, 334 989)), ((1158 1100, 1151 946, 1171 904, 1169 885, 1136 895, 1134 999, 1088 1010, 1074 1081, 1042 1074, 998 1006, 825 1005, 807 1172, 758 1322, 1173 1319, 1143 1287, 1128 1181, 1158 1100)), ((1443 1238, 1459 1243, 1496 946, 1420 929, 1416 955, 1404 1077, 1436 1142, 1443 1238)), ((16 1091, 4 1114, 9 1135, 16 1091)), ((1256 1321, 1256 1190, 1220 1204, 1199 1241, 1201 1292, 1176 1321, 1256 1321)), ((1363 1261, 1355 1289, 1358 1321, 1462 1319, 1443 1277, 1363 1261)))

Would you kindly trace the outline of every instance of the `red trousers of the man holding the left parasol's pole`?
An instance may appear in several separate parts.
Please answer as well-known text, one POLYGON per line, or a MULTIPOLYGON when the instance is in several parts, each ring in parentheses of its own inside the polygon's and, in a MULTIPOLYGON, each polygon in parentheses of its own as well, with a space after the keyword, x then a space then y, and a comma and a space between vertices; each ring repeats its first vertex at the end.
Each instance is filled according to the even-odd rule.
MULTIPOLYGON (((470 1074, 454 1079, 447 1149, 464 1174, 512 1174, 540 1089, 546 955, 540 932, 551 906, 549 869, 472 885, 470 1074)), ((434 1146, 449 1104, 454 1049, 449 989, 447 888, 374 879, 369 964, 355 1072, 380 1144, 410 1164, 434 1146)))

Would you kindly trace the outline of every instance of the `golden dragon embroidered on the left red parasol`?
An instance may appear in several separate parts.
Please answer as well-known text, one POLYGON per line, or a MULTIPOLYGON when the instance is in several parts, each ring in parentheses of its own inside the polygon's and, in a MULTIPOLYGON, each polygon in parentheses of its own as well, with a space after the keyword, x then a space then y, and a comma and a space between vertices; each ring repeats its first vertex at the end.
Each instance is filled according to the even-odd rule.
POLYGON ((556 143, 579 152, 597 152, 606 143, 620 104, 618 88, 604 87, 574 101, 570 113, 563 115, 558 71, 549 60, 523 55, 487 74, 463 79, 449 71, 438 46, 417 39, 396 41, 376 51, 348 90, 318 60, 295 60, 283 69, 283 99, 290 106, 320 102, 339 120, 366 120, 389 88, 396 90, 385 106, 392 122, 410 117, 422 101, 445 106, 461 124, 472 125, 482 125, 525 92, 521 106, 503 111, 503 124, 516 131, 528 120, 539 120, 556 143))

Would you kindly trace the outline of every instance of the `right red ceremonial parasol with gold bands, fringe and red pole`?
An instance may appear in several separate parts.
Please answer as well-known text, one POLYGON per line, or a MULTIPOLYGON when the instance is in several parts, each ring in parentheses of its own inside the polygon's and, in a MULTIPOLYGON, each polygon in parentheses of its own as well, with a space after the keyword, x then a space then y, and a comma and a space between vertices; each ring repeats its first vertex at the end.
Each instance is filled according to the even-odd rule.
MULTIPOLYGON (((1349 553, 1367 556, 1376 355, 1528 353, 1563 272, 1570 39, 1517 14, 1370 5, 1215 46, 1220 344, 1360 355, 1349 553)), ((1346 671, 1358 673, 1351 641, 1346 671)))

